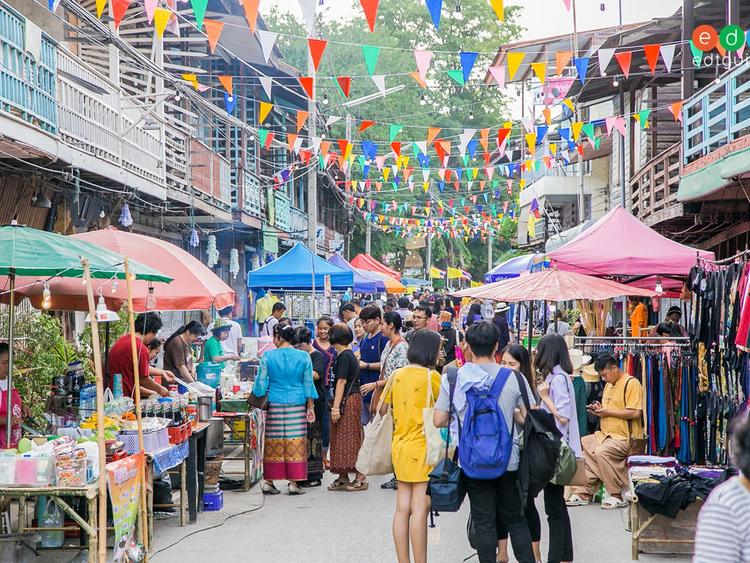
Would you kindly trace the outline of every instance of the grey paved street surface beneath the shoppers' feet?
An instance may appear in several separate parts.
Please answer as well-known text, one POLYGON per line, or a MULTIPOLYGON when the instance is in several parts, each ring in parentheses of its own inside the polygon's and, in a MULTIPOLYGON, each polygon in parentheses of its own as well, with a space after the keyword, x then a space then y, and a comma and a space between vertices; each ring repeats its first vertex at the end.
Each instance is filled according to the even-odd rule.
MULTIPOLYGON (((221 554, 224 561, 236 557, 238 561, 264 563, 395 561, 390 532, 395 493, 380 489, 383 480, 373 478, 370 489, 362 493, 329 493, 321 487, 308 489, 303 497, 286 494, 265 497, 265 504, 259 510, 231 518, 219 528, 195 533, 264 503, 258 487, 249 493, 226 492, 224 509, 200 515, 194 526, 179 528, 175 519, 157 522, 154 546, 157 554, 152 560, 156 563, 210 561, 221 554), (169 547, 187 534, 193 535, 169 547)), ((605 512, 598 506, 571 510, 576 561, 630 561, 625 514, 605 512)), ((430 532, 430 562, 477 561, 466 540, 467 516, 468 502, 461 513, 444 514, 437 519, 437 528, 430 532)), ((542 549, 546 551, 544 545, 542 549)), ((689 558, 643 555, 641 560, 661 563, 689 561, 689 558)))

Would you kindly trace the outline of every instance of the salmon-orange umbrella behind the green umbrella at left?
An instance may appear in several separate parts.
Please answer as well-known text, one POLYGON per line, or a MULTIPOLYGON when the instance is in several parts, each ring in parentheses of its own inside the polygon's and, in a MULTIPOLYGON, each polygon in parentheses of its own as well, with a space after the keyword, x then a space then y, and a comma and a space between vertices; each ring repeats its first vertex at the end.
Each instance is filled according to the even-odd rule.
MULTIPOLYGON (((161 239, 120 231, 113 227, 71 235, 127 256, 133 260, 158 269, 174 281, 170 284, 152 285, 156 303, 147 307, 149 283, 134 281, 133 308, 137 312, 149 309, 159 311, 191 311, 210 309, 213 305, 222 309, 234 305, 234 290, 224 283, 198 259, 179 246, 161 239)), ((35 307, 42 300, 43 287, 37 283, 23 288, 30 278, 19 278, 19 293, 28 297, 35 307)), ((101 292, 107 306, 119 309, 127 299, 125 283, 115 285, 114 280, 93 280, 94 292, 101 292)), ((52 294, 52 309, 87 311, 86 288, 80 279, 55 278, 49 282, 52 294)))

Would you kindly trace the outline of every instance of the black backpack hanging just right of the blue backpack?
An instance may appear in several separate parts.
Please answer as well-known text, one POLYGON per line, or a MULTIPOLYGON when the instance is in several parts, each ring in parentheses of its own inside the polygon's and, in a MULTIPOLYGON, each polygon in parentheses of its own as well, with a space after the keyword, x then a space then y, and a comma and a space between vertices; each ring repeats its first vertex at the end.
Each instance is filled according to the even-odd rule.
POLYGON ((535 498, 555 475, 562 434, 557 429, 552 414, 542 409, 531 409, 526 382, 519 372, 515 374, 526 406, 521 461, 518 466, 518 488, 523 509, 526 502, 535 498))

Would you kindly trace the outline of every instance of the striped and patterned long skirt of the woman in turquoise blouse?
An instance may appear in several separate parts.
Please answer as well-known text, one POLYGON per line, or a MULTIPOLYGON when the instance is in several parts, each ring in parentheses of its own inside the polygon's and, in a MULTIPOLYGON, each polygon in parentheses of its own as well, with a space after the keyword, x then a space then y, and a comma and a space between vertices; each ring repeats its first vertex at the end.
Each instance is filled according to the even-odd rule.
POLYGON ((307 479, 307 407, 270 403, 263 445, 263 478, 307 479))

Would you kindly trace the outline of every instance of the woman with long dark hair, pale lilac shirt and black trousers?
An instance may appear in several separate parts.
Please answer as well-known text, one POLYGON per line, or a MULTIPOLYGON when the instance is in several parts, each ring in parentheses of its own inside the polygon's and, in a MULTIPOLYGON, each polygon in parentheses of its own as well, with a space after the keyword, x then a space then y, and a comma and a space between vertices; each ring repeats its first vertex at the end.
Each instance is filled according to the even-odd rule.
MULTIPOLYGON (((544 378, 537 386, 541 399, 540 408, 555 418, 555 425, 577 458, 583 457, 581 436, 578 429, 575 391, 573 389, 573 364, 570 361, 568 346, 559 334, 547 334, 537 344, 534 368, 544 378)), ((549 523, 548 563, 573 561, 573 534, 570 527, 568 508, 565 506, 565 487, 547 483, 544 487, 544 511, 549 523)), ((534 499, 528 499, 534 505, 534 499)), ((536 510, 534 510, 536 512, 536 510)), ((529 518, 532 525, 533 518, 529 518)), ((536 522, 539 522, 538 517, 536 522)), ((532 536, 534 530, 531 531, 532 536)))

